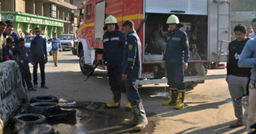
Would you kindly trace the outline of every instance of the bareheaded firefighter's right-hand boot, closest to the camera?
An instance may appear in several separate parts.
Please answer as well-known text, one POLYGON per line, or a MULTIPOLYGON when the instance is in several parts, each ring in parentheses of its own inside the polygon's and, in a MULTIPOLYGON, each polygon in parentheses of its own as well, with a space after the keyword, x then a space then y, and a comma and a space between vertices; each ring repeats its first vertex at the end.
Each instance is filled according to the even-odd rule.
POLYGON ((146 117, 146 112, 143 108, 142 101, 139 103, 139 105, 133 106, 133 110, 138 119, 138 123, 135 126, 135 131, 141 131, 146 127, 146 125, 148 125, 148 119, 146 117))

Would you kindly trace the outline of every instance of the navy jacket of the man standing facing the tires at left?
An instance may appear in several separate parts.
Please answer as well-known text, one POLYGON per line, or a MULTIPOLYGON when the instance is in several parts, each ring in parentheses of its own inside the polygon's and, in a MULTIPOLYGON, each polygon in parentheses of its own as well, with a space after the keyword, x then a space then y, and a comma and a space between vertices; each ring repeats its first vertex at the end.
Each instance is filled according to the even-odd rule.
POLYGON ((30 45, 31 62, 34 62, 34 57, 45 56, 44 60, 48 60, 46 51, 46 41, 44 38, 34 38, 30 45))

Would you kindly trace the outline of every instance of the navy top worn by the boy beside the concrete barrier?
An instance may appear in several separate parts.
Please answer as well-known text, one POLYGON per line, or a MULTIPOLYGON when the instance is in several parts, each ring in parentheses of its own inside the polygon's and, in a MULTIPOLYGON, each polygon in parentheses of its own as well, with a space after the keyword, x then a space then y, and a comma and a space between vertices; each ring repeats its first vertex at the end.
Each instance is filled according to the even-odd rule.
POLYGON ((29 68, 28 63, 30 62, 30 52, 28 51, 28 48, 15 46, 15 52, 17 54, 17 59, 20 67, 29 68))

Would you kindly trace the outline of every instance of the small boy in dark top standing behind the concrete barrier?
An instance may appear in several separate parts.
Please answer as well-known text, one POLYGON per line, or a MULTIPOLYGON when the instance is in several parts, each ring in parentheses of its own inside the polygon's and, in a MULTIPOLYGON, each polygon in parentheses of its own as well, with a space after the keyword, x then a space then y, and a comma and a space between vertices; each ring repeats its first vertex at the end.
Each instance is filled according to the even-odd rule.
POLYGON ((3 58, 4 61, 15 60, 11 48, 15 44, 13 38, 7 38, 5 47, 3 47, 3 58))

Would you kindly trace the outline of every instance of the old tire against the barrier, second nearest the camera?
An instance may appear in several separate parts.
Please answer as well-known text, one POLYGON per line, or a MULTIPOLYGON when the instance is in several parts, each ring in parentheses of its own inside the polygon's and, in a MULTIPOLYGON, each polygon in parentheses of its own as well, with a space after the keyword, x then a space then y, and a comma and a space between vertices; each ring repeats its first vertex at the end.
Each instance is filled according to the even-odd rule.
POLYGON ((44 115, 39 115, 36 113, 26 113, 22 115, 17 115, 11 119, 11 128, 14 131, 20 131, 28 125, 40 124, 46 121, 44 115))

